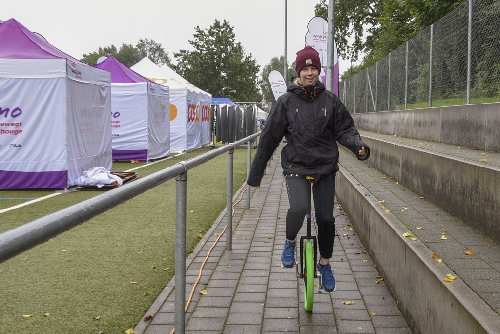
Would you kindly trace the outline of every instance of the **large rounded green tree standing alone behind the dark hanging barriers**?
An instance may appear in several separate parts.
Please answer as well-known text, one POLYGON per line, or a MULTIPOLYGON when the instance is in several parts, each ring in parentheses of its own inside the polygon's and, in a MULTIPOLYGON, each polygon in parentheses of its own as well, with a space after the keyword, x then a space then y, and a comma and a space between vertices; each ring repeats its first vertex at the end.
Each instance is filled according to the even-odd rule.
POLYGON ((177 65, 173 69, 213 96, 258 101, 259 65, 235 42, 232 26, 225 19, 215 19, 208 29, 196 26, 194 30, 194 38, 189 40, 194 50, 174 53, 177 65))

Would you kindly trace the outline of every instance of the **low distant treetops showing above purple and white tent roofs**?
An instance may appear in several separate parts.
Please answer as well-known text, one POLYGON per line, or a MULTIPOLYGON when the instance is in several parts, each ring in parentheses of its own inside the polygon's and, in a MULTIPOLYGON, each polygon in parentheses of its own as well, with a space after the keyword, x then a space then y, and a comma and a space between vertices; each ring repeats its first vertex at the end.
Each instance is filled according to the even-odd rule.
POLYGON ((127 67, 133 66, 137 63, 137 61, 145 56, 151 59, 158 66, 165 63, 168 65, 170 64, 170 57, 161 46, 161 43, 157 43, 154 39, 148 38, 140 38, 135 44, 135 47, 132 44, 123 43, 121 44, 119 50, 117 50, 116 46, 112 44, 106 47, 99 47, 97 51, 83 54, 83 57, 80 60, 93 66, 97 63, 97 59, 102 55, 112 55, 127 67))

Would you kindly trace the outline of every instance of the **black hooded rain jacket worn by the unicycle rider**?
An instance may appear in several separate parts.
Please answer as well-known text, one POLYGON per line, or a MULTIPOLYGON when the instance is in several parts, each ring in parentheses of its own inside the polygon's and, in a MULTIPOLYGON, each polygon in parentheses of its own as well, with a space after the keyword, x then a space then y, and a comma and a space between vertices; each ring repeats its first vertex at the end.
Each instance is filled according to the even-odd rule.
POLYGON ((283 174, 309 175, 316 179, 338 170, 336 141, 351 150, 358 159, 369 157, 369 148, 361 140, 354 121, 338 96, 325 89, 321 81, 301 86, 294 80, 272 106, 246 183, 259 186, 267 160, 279 142, 283 174), (361 147, 366 154, 359 156, 361 147))

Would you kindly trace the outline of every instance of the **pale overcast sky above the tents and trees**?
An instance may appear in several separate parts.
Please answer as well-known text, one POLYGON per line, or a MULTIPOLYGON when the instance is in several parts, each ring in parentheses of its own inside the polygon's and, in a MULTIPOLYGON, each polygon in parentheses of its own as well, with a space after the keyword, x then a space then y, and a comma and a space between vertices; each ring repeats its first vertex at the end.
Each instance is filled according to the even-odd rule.
MULTIPOLYGON (((1 1, 0 19, 15 18, 49 43, 79 59, 84 53, 139 38, 160 42, 175 62, 174 52, 192 50, 194 27, 207 29, 227 20, 258 65, 284 53, 285 0, 17 0, 1 1)), ((287 0, 288 64, 305 45, 307 22, 319 0, 287 0)), ((341 74, 350 62, 339 59, 341 74)))

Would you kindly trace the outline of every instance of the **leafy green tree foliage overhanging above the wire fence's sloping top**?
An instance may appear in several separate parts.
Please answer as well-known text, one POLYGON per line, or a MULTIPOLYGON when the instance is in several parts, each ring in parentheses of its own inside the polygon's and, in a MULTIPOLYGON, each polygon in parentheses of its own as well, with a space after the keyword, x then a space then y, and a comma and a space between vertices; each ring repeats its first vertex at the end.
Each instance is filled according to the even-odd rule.
MULTIPOLYGON (((353 61, 364 53, 361 68, 366 68, 465 1, 336 0, 335 41, 338 53, 353 61), (349 45, 347 39, 351 38, 353 42, 349 45)), ((316 4, 315 14, 327 19, 327 0, 316 4)))

